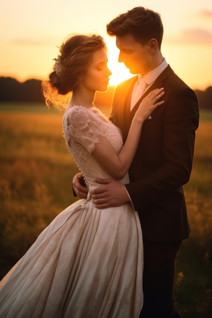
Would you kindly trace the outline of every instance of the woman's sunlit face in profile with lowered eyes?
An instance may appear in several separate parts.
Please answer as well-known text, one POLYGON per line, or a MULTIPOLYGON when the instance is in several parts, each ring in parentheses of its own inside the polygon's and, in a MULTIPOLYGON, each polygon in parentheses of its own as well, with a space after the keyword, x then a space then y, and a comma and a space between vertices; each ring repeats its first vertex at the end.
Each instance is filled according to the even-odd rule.
POLYGON ((99 49, 94 52, 87 71, 82 75, 83 89, 106 91, 109 76, 112 74, 107 67, 107 52, 99 49))

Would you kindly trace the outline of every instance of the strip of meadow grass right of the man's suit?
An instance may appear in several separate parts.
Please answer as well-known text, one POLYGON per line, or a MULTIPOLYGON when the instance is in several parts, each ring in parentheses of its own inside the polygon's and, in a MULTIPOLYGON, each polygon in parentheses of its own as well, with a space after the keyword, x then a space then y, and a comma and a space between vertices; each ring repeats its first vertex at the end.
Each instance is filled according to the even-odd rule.
POLYGON ((200 118, 192 175, 184 187, 191 237, 178 253, 175 280, 178 308, 190 318, 212 316, 212 121, 208 111, 200 118))

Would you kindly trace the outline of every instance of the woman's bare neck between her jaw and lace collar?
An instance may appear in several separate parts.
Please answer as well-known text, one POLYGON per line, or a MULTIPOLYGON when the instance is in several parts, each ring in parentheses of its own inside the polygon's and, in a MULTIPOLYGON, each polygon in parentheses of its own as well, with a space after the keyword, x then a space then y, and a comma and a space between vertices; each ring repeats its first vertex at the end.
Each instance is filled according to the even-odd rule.
POLYGON ((80 88, 73 90, 70 106, 78 105, 86 108, 92 108, 94 104, 95 92, 85 91, 80 88))

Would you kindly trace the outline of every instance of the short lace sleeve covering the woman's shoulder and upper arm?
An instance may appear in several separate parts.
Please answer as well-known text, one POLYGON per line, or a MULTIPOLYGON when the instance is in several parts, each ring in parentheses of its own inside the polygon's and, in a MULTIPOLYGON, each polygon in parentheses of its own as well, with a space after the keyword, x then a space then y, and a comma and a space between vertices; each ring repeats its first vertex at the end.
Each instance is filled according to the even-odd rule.
POLYGON ((84 146, 92 153, 100 136, 105 136, 101 129, 101 122, 89 110, 82 106, 74 106, 67 116, 69 139, 84 146))

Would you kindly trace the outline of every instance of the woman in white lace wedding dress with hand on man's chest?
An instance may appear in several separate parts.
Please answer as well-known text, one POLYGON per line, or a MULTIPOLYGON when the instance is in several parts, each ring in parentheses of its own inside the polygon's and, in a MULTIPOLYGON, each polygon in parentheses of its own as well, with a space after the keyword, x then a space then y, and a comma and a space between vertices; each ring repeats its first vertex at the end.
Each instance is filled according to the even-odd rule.
POLYGON ((119 130, 93 104, 110 75, 103 39, 78 35, 60 47, 54 71, 43 82, 47 105, 72 92, 64 136, 88 196, 60 213, 9 274, 0 294, 2 318, 139 316, 143 254, 137 212, 130 204, 97 209, 90 193, 97 177, 129 181, 142 124, 163 103, 163 90, 142 102, 123 146, 119 130))

